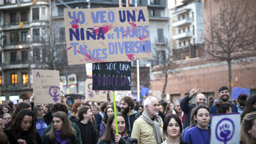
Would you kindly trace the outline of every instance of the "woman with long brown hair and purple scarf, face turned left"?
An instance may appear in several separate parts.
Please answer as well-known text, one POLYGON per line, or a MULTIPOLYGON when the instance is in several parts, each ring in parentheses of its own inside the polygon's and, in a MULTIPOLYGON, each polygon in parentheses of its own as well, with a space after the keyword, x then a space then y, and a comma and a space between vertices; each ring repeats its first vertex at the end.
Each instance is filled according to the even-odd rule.
POLYGON ((51 131, 45 135, 44 144, 66 143, 78 144, 79 140, 75 130, 71 126, 68 115, 59 111, 53 115, 53 126, 51 131))

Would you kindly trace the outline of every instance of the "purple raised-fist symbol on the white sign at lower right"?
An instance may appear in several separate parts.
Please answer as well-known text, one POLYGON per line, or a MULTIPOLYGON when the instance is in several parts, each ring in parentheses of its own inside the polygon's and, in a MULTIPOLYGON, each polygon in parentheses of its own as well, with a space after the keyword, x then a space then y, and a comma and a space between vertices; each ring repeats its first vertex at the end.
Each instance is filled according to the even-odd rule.
POLYGON ((235 132, 234 122, 229 118, 223 118, 217 124, 215 129, 215 135, 219 141, 227 143, 227 141, 231 140, 235 132))

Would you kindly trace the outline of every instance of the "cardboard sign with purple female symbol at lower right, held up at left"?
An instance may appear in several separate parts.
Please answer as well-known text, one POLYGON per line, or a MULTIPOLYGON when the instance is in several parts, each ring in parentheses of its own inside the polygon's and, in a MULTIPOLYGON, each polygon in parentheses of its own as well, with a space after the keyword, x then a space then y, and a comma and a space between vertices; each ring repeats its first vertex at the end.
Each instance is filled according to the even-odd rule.
POLYGON ((61 102, 59 70, 36 70, 33 73, 33 93, 36 96, 34 103, 61 102))

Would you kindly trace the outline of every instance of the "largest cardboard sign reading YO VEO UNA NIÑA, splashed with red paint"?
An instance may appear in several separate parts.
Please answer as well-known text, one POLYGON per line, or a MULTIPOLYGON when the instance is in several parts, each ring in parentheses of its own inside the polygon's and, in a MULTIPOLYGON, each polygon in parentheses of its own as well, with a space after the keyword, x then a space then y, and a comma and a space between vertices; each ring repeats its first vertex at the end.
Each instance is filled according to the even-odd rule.
POLYGON ((64 9, 68 65, 151 59, 146 6, 64 9))

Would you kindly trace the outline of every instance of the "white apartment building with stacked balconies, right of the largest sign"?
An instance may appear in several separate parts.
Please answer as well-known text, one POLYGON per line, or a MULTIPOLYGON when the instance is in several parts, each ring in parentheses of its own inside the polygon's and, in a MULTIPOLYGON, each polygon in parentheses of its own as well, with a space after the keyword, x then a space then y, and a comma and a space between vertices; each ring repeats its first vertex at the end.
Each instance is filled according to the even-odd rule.
POLYGON ((171 6, 171 45, 175 60, 200 57, 196 50, 204 43, 202 1, 186 0, 181 5, 171 6))

